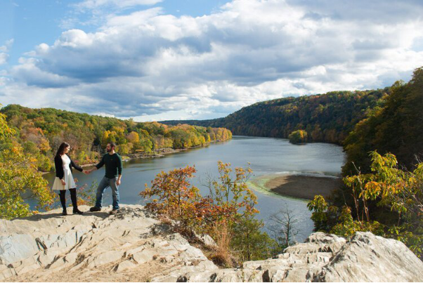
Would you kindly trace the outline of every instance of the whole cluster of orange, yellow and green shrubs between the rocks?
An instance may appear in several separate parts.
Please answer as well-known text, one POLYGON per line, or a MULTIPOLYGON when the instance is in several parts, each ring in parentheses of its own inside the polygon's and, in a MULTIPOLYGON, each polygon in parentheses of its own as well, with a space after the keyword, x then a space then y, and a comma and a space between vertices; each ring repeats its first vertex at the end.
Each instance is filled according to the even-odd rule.
POLYGON ((207 197, 190 184, 196 173, 194 167, 160 173, 152 186, 146 185, 141 192, 151 199, 147 208, 178 221, 179 232, 211 235, 219 246, 213 257, 217 263, 225 261, 232 266, 235 256, 241 261, 271 256, 275 242, 262 232, 263 222, 255 218, 259 213, 255 209, 257 198, 247 186, 252 170, 232 169, 223 162, 218 166, 219 177, 208 179, 207 197))

